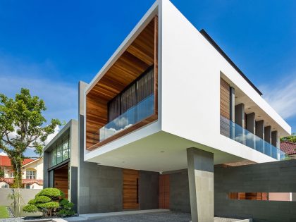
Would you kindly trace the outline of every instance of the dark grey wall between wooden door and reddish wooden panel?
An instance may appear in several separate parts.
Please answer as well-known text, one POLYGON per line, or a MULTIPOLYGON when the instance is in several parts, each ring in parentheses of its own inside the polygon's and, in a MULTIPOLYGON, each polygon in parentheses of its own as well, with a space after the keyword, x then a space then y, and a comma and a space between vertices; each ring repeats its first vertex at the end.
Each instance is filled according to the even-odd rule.
POLYGON ((159 173, 140 171, 140 209, 159 208, 159 173))

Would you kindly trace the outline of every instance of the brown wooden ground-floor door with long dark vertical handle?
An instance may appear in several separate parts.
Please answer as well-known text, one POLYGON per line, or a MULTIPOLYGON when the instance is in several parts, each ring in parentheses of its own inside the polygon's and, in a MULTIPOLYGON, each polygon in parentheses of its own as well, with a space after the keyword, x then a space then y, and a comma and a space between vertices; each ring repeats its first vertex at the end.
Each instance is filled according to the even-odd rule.
POLYGON ((140 172, 123 169, 123 209, 139 209, 140 172))

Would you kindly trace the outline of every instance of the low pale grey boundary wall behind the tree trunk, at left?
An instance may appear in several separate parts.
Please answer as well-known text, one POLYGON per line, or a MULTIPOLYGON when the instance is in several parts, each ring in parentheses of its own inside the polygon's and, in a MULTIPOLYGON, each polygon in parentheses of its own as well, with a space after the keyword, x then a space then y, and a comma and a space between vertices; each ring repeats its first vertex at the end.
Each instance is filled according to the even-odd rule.
MULTIPOLYGON (((40 189, 20 189, 20 196, 22 197, 21 205, 26 205, 30 199, 34 199, 35 195, 40 192, 40 189)), ((13 189, 1 188, 0 189, 0 206, 11 206, 12 199, 8 198, 8 195, 13 194, 13 189)))

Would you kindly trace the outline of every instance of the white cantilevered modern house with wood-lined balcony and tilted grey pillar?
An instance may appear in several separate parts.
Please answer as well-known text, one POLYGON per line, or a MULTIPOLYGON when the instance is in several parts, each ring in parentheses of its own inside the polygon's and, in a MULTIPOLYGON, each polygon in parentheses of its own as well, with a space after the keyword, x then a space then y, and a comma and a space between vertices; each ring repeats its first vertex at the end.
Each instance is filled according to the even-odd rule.
POLYGON ((215 165, 285 158, 288 123, 168 0, 79 90, 80 214, 160 208, 213 221, 215 165))

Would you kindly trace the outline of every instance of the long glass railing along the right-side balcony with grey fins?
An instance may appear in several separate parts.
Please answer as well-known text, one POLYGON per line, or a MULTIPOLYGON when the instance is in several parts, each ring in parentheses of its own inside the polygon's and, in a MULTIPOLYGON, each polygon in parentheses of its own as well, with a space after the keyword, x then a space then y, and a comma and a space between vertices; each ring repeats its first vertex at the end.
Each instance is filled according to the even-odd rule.
POLYGON ((262 140, 257 135, 249 132, 245 128, 242 128, 237 123, 228 120, 224 116, 220 116, 220 133, 226 137, 245 144, 247 147, 255 149, 262 154, 271 156, 274 159, 283 160, 286 158, 286 154, 277 147, 274 147, 269 142, 262 140))

